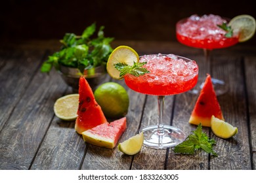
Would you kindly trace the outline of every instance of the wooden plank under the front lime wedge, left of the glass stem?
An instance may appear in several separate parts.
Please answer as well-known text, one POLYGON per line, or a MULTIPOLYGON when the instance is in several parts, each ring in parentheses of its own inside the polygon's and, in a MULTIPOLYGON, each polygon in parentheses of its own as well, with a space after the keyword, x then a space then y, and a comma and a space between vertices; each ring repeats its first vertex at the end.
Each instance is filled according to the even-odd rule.
MULTIPOLYGON (((127 129, 119 139, 119 142, 123 142, 137 134, 145 96, 128 89, 123 80, 113 81, 118 82, 127 89, 131 101, 127 113, 127 129)), ((90 144, 81 169, 129 169, 131 161, 132 156, 123 155, 117 150, 117 146, 114 149, 106 149, 90 144)))

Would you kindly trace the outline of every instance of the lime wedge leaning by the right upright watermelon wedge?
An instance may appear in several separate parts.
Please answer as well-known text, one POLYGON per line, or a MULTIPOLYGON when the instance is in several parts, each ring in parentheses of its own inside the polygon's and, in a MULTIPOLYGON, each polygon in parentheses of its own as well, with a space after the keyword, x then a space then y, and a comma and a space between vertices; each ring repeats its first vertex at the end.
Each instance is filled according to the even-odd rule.
POLYGON ((211 116, 211 130, 217 137, 228 139, 238 133, 238 128, 234 127, 215 116, 211 116))

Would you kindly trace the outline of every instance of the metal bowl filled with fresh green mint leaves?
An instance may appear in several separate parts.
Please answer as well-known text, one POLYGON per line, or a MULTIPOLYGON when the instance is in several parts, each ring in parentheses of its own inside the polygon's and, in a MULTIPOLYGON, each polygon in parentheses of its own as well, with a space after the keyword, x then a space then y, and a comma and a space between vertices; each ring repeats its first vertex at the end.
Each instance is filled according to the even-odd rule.
POLYGON ((42 73, 55 69, 66 84, 78 90, 80 76, 85 76, 91 87, 106 75, 106 62, 113 51, 112 37, 104 37, 104 26, 96 33, 96 24, 85 28, 81 35, 66 33, 60 40, 60 50, 41 65, 42 73))

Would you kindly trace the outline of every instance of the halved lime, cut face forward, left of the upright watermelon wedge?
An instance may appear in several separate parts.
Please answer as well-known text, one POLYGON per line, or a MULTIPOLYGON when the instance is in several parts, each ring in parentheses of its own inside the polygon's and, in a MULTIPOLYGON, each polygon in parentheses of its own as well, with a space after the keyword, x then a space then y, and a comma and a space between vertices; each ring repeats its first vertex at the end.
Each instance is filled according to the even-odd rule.
POLYGON ((54 103, 54 114, 61 120, 72 121, 77 118, 79 94, 70 94, 60 97, 54 103))

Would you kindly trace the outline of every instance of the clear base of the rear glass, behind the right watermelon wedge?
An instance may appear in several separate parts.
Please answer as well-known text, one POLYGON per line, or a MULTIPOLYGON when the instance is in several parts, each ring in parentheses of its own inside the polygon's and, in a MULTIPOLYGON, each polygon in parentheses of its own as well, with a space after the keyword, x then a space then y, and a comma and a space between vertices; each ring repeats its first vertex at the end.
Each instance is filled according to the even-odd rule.
MULTIPOLYGON (((223 80, 211 78, 211 82, 213 83, 213 88, 217 96, 223 95, 224 93, 228 92, 228 86, 225 84, 223 80)), ((198 95, 203 88, 203 84, 204 84, 204 80, 198 80, 198 84, 188 92, 198 95)))

